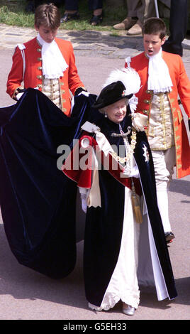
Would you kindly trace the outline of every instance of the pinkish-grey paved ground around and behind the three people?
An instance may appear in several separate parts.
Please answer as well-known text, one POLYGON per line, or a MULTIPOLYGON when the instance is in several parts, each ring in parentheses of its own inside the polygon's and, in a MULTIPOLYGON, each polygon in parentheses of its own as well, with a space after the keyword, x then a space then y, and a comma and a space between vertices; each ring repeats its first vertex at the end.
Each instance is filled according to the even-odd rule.
MULTIPOLYGON (((13 104, 6 95, 6 77, 17 43, 35 36, 28 28, 0 25, 0 105, 13 104)), ((113 68, 122 68, 124 59, 143 50, 142 37, 114 37, 95 31, 62 31, 72 41, 77 68, 89 92, 99 93, 113 68)), ((185 42, 184 63, 190 77, 190 51, 185 42)), ((135 316, 121 313, 121 303, 108 312, 89 310, 84 296, 82 273, 83 242, 77 245, 77 265, 66 279, 54 281, 18 264, 0 223, 0 320, 186 320, 190 318, 189 196, 190 177, 172 181, 169 214, 176 239, 169 247, 179 296, 174 301, 157 301, 155 289, 143 289, 135 316)), ((63 321, 64 322, 64 321, 63 321)), ((152 328, 153 329, 153 328, 152 328)), ((170 328, 172 330, 172 328, 170 328)))

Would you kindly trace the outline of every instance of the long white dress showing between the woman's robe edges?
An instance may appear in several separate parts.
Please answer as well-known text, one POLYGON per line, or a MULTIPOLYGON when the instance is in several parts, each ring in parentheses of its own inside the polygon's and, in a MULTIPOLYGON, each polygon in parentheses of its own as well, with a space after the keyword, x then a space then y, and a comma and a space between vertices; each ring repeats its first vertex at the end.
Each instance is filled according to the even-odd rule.
POLYGON ((140 224, 135 221, 131 201, 131 190, 125 187, 125 212, 123 220, 123 234, 118 262, 111 276, 111 280, 104 294, 101 306, 89 307, 96 310, 108 310, 119 300, 138 308, 140 290, 138 287, 138 239, 140 224))

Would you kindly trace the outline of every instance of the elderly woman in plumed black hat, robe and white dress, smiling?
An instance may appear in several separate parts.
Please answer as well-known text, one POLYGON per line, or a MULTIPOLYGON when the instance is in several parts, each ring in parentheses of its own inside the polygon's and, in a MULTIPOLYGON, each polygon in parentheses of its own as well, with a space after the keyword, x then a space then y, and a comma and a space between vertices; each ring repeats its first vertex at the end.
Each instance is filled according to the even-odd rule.
MULTIPOLYGON (((122 301, 123 313, 128 316, 140 303, 139 262, 139 275, 143 273, 146 280, 146 262, 150 260, 158 300, 177 296, 157 208, 154 166, 144 131, 146 118, 135 113, 134 94, 139 89, 140 78, 135 70, 111 72, 94 102, 93 123, 82 126, 79 146, 91 152, 91 166, 81 166, 77 178, 86 212, 86 299, 96 311, 109 310, 122 301), (96 117, 99 112, 102 117, 96 117), (145 217, 147 225, 143 227, 145 217), (144 254, 143 262, 138 254, 140 231, 144 228, 147 233, 143 242, 149 245, 150 256, 144 254)), ((74 179, 72 171, 63 171, 74 179)))

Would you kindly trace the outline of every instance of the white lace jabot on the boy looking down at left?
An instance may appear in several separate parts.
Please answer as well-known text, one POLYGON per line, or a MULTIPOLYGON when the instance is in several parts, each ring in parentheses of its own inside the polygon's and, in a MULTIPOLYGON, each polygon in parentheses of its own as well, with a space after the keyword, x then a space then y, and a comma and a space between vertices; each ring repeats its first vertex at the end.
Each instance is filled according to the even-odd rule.
POLYGON ((37 40, 42 45, 43 75, 47 79, 61 77, 63 72, 68 68, 68 65, 57 43, 55 40, 52 43, 46 43, 39 33, 37 40))

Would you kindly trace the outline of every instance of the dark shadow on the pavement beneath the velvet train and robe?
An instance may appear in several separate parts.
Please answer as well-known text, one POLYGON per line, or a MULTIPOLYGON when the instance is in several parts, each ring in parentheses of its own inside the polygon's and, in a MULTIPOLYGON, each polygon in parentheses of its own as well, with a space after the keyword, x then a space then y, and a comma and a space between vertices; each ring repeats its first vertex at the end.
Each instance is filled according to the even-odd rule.
MULTIPOLYGON (((50 279, 18 264, 9 249, 3 225, 0 225, 0 254, 0 294, 9 294, 16 299, 41 299, 77 308, 88 308, 82 269, 83 242, 77 244, 77 264, 74 271, 65 279, 59 280, 50 279)), ((171 303, 190 305, 190 277, 177 279, 176 285, 178 297, 174 301, 165 299, 157 302, 155 287, 140 288, 140 306, 165 310, 171 303)), ((113 312, 121 312, 120 302, 114 307, 113 312)))

